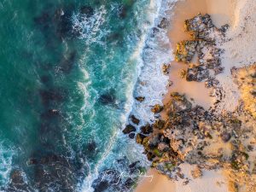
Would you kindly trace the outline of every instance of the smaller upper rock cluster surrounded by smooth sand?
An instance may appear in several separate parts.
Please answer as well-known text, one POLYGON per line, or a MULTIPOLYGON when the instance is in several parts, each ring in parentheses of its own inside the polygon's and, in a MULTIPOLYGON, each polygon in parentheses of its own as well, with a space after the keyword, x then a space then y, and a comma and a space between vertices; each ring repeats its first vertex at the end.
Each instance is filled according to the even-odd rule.
POLYGON ((224 38, 227 26, 218 29, 212 24, 210 15, 196 15, 190 20, 185 20, 185 29, 190 32, 192 39, 177 43, 175 51, 176 61, 190 63, 195 54, 198 55, 198 64, 190 64, 185 75, 188 81, 202 81, 209 79, 209 70, 215 74, 223 72, 219 56, 223 52, 218 49, 216 39, 224 38))

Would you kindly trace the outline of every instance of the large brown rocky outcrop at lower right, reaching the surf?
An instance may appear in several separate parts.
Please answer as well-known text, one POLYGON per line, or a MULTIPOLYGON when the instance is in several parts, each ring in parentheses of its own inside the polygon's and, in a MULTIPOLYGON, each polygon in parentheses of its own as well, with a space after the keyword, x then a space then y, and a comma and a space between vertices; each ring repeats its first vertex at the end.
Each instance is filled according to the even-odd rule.
MULTIPOLYGON (((176 92, 164 110, 166 121, 158 119, 147 125, 145 130, 150 131, 137 134, 137 143, 143 145, 153 167, 171 178, 178 176, 178 166, 183 162, 253 174, 249 158, 256 146, 242 142, 248 132, 242 131, 247 128, 241 125, 241 113, 214 115, 200 106, 193 108, 185 96, 176 92)), ((201 177, 201 171, 193 175, 201 177)))

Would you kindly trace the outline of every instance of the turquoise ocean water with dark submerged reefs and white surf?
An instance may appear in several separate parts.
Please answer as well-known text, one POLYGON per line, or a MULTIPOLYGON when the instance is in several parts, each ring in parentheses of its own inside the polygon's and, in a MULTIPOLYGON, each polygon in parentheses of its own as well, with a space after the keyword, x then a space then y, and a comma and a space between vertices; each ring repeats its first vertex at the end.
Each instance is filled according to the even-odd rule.
MULTIPOLYGON (((130 177, 117 176, 136 178, 131 169, 143 170, 148 162, 120 131, 132 111, 141 124, 152 116, 139 111, 134 96, 152 91, 148 106, 162 96, 154 86, 136 85, 147 79, 140 76, 143 63, 157 63, 147 50, 169 54, 151 44, 152 32, 163 30, 152 28, 160 5, 0 0, 1 191, 132 189, 130 177)), ((154 67, 147 70, 161 81, 154 67)))

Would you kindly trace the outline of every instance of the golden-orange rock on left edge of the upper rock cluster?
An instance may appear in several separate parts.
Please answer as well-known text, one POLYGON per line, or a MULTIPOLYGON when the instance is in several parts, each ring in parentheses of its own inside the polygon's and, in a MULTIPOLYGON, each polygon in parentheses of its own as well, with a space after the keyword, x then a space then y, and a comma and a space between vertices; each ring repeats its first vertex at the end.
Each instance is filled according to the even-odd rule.
POLYGON ((176 61, 183 61, 189 63, 192 61, 193 56, 195 55, 195 48, 198 44, 196 40, 186 40, 180 43, 177 43, 176 51, 174 53, 176 61))

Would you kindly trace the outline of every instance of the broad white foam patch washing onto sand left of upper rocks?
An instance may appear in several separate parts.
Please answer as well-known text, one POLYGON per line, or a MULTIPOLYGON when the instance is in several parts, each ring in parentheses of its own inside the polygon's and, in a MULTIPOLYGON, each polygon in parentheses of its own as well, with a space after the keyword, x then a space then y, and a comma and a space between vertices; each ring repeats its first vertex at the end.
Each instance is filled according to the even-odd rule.
MULTIPOLYGON (((176 0, 153 2, 155 1, 151 1, 150 4, 154 4, 158 9, 156 15, 152 14, 154 15, 154 27, 157 27, 163 18, 171 20, 173 3, 176 0)), ((161 68, 164 63, 173 60, 167 29, 159 27, 157 29, 148 33, 146 40, 143 42, 143 51, 138 59, 140 75, 134 94, 135 96, 145 96, 145 100, 144 102, 134 102, 131 113, 141 119, 141 124, 155 119, 154 113, 150 109, 154 104, 162 103, 169 79, 161 72, 161 68)))

